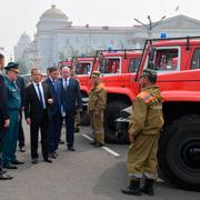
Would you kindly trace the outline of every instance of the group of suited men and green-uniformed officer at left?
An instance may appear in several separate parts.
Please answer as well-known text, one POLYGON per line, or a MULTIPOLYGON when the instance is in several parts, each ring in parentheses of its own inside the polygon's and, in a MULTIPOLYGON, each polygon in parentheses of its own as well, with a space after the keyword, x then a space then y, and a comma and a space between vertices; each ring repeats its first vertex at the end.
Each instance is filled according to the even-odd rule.
MULTIPOLYGON (((4 66, 4 57, 1 54, 1 70, 4 66)), ((66 120, 67 148, 74 151, 73 132, 74 116, 77 109, 82 109, 79 82, 70 77, 70 69, 61 69, 61 78, 58 78, 57 68, 49 68, 49 77, 42 80, 40 70, 31 70, 32 82, 24 90, 17 86, 19 73, 18 63, 9 62, 4 67, 6 76, 0 74, 0 179, 11 179, 6 173, 7 169, 17 169, 22 164, 16 157, 17 140, 20 130, 21 107, 23 100, 24 118, 30 126, 30 146, 32 163, 38 163, 38 139, 41 132, 41 149, 44 162, 52 162, 57 158, 57 149, 60 141, 62 120, 66 120)), ((24 143, 22 143, 24 146, 24 143)))

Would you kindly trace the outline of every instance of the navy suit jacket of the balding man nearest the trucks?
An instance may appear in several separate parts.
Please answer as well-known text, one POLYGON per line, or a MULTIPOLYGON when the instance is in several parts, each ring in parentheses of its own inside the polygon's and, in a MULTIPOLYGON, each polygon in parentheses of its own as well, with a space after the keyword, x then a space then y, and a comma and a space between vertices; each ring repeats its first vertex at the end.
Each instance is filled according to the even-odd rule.
POLYGON ((70 78, 68 89, 66 91, 62 79, 59 79, 57 82, 57 89, 60 109, 63 107, 63 111, 66 112, 76 112, 77 108, 82 109, 82 99, 78 80, 70 78))

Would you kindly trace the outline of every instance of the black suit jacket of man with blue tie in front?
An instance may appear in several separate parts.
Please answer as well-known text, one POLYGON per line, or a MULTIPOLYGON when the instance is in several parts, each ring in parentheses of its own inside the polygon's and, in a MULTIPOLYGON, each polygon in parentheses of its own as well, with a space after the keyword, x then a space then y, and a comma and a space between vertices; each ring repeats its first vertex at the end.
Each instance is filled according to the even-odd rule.
MULTIPOLYGON (((48 99, 52 98, 50 88, 46 83, 41 83, 43 88, 43 94, 44 94, 44 100, 46 100, 46 106, 47 106, 47 113, 49 117, 49 103, 48 99)), ((42 120, 42 108, 40 104, 40 100, 38 98, 37 91, 34 89, 33 83, 29 84, 24 89, 24 117, 30 118, 32 122, 41 122, 42 120)))

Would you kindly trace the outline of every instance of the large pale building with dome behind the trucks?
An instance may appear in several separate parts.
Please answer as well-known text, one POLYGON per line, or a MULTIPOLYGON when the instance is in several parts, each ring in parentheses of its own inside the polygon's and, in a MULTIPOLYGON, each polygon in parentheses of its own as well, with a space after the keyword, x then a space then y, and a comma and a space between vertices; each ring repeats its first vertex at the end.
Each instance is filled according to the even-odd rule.
MULTIPOLYGON (((142 48, 147 38, 200 36, 200 21, 179 14, 149 26, 84 27, 72 26, 56 6, 47 10, 37 23, 37 33, 29 50, 32 66, 42 71, 64 58, 91 53, 98 49, 142 48)), ((18 54, 19 48, 14 49, 18 54)), ((27 52, 28 53, 28 52, 27 52)), ((31 68, 31 66, 30 66, 31 68)))

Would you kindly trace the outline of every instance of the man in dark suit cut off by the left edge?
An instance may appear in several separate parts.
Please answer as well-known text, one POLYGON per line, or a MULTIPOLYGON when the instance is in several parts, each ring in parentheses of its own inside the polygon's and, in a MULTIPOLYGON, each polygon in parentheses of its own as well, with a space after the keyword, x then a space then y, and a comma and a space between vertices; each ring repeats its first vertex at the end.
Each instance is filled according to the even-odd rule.
POLYGON ((7 132, 7 128, 10 124, 9 112, 7 106, 7 90, 4 84, 4 78, 1 74, 1 70, 4 67, 4 56, 0 53, 0 180, 12 179, 11 176, 7 174, 3 170, 2 163, 2 148, 3 139, 7 132))

